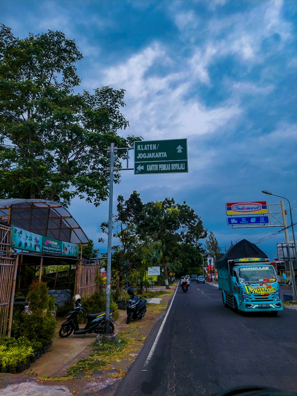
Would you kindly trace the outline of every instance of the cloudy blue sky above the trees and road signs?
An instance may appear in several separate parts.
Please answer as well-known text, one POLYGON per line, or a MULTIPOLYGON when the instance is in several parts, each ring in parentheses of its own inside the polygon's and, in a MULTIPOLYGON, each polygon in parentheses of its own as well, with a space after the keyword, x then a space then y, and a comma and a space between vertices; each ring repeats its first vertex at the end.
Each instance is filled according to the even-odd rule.
MULTIPOLYGON (((50 29, 75 39, 80 90, 126 89, 124 133, 188 139, 187 174, 122 171, 114 209, 133 190, 144 202, 185 200, 222 248, 246 238, 272 259, 281 228, 232 229, 225 204, 278 204, 266 189, 297 219, 296 11, 295 0, 2 0, 0 22, 20 38, 50 29)), ((106 251, 108 203, 75 199, 70 211, 106 251)))

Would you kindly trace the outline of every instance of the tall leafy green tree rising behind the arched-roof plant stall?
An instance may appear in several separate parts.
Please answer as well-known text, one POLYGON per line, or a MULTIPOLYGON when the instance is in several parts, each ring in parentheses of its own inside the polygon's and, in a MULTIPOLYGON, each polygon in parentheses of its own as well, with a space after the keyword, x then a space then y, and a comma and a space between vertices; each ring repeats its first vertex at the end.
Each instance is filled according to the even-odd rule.
MULTIPOLYGON (((30 33, 22 40, 1 25, 0 198, 42 198, 65 206, 75 196, 95 206, 107 199, 105 149, 141 138, 117 134, 129 125, 120 112, 124 89, 74 93, 80 59, 74 40, 62 32, 30 33)), ((115 152, 118 168, 121 156, 124 150, 115 152)))

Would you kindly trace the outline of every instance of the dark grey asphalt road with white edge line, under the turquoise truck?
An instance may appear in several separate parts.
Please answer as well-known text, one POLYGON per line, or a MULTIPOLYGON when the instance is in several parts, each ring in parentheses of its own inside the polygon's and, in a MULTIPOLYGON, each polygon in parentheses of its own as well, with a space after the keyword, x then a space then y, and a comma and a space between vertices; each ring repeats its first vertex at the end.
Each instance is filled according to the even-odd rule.
POLYGON ((116 396, 207 396, 245 385, 297 390, 297 310, 236 314, 217 287, 194 282, 171 301, 116 396))

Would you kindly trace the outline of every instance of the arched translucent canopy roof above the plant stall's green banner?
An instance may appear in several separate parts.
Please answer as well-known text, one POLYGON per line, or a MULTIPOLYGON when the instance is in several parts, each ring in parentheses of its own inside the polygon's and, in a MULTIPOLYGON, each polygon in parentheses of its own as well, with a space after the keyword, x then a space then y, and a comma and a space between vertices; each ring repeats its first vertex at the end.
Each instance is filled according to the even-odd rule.
POLYGON ((88 244, 89 238, 61 204, 42 199, 0 200, 0 220, 64 242, 88 244))

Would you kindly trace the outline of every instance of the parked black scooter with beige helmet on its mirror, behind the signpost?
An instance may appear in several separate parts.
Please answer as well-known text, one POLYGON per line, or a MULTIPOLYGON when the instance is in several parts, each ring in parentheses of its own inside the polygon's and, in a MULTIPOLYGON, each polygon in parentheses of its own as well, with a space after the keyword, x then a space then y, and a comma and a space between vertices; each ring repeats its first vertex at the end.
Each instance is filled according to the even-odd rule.
MULTIPOLYGON (((72 331, 73 334, 89 334, 96 333, 102 334, 104 332, 105 327, 105 312, 99 312, 97 314, 87 314, 87 323, 85 327, 80 328, 78 325, 78 314, 80 312, 86 312, 86 310, 80 304, 81 297, 79 294, 76 294, 73 297, 74 308, 68 312, 66 316, 66 321, 61 324, 61 329, 59 330, 59 336, 61 338, 68 337, 72 331)), ((112 312, 110 312, 110 334, 114 333, 114 320, 112 319, 112 312)))

